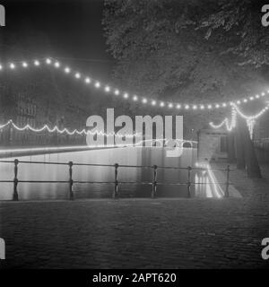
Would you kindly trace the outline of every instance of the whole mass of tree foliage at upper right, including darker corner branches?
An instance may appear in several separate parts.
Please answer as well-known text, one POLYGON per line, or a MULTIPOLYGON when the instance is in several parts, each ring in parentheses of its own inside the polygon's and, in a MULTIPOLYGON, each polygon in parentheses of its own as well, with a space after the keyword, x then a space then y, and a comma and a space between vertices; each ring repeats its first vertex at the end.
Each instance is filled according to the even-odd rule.
MULTIPOLYGON (((254 0, 106 0, 114 79, 130 91, 180 103, 221 103, 261 91, 268 35, 257 18, 260 9, 254 0)), ((209 117, 227 115, 184 116, 188 137, 209 117)))

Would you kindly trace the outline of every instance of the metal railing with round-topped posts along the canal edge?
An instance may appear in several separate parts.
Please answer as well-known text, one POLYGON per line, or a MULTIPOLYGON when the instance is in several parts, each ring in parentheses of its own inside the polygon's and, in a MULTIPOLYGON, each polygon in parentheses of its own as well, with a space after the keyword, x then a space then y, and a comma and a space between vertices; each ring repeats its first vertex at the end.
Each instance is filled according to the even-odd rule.
POLYGON ((163 167, 163 166, 142 166, 142 165, 124 165, 124 164, 98 164, 98 163, 74 163, 73 161, 69 162, 45 162, 45 161, 0 161, 0 163, 11 163, 14 165, 14 178, 13 180, 0 180, 2 183, 13 183, 13 201, 19 200, 18 194, 18 184, 21 183, 65 183, 69 185, 69 199, 74 200, 74 191, 73 186, 75 183, 79 184, 113 184, 114 191, 112 194, 113 198, 117 198, 119 196, 119 185, 125 184, 140 184, 140 185, 149 185, 152 186, 152 198, 157 196, 157 187, 161 185, 165 186, 186 186, 187 187, 187 197, 191 197, 191 187, 195 185, 225 185, 224 197, 229 197, 229 186, 230 186, 230 165, 227 166, 226 169, 212 169, 208 167, 187 167, 187 168, 176 168, 176 167, 163 167), (48 164, 48 165, 62 165, 66 166, 66 172, 68 172, 69 178, 68 180, 21 180, 18 178, 18 170, 20 164, 48 164), (87 166, 87 167, 109 167, 114 169, 115 178, 114 181, 88 181, 88 180, 74 180, 73 178, 73 169, 75 166, 87 166), (118 172, 120 168, 134 168, 134 169, 151 169, 152 170, 152 180, 151 181, 119 181, 118 172), (158 182, 157 174, 158 170, 187 170, 187 182, 158 182), (191 173, 193 170, 220 170, 226 172, 226 181, 225 182, 192 182, 191 181, 191 173))

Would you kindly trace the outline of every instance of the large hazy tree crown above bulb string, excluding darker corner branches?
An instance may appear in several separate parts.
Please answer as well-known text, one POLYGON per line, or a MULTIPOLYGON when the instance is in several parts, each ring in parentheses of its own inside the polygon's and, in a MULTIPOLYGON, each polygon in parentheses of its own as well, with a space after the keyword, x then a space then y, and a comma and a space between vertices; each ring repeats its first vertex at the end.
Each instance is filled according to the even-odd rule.
POLYGON ((103 23, 117 59, 115 81, 152 98, 198 103, 238 98, 265 86, 260 71, 239 66, 243 59, 227 54, 237 44, 235 36, 227 40, 215 32, 209 37, 211 22, 204 19, 213 17, 219 3, 105 1, 103 23))

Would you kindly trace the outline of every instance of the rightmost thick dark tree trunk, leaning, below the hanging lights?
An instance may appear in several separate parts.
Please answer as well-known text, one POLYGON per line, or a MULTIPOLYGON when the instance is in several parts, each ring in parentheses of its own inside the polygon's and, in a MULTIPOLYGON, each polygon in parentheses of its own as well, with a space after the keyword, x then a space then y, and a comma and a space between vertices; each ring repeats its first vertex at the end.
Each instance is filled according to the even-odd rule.
POLYGON ((238 117, 239 133, 243 143, 244 158, 246 162, 248 178, 262 178, 261 170, 256 159, 254 144, 250 138, 246 120, 238 117))

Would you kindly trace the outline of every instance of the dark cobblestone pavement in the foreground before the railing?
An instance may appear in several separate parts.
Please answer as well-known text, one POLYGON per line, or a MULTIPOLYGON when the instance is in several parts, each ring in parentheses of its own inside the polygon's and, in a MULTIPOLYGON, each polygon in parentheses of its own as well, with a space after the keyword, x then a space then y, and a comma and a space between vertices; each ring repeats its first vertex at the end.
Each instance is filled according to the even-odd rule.
MULTIPOLYGON (((4 268, 269 268, 269 180, 243 198, 2 202, 4 268)), ((244 187, 246 186, 246 187, 244 187)))

